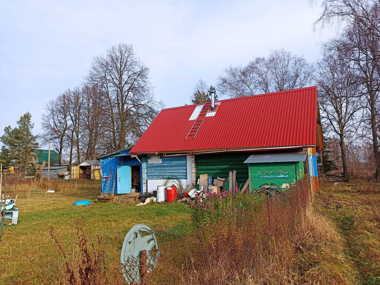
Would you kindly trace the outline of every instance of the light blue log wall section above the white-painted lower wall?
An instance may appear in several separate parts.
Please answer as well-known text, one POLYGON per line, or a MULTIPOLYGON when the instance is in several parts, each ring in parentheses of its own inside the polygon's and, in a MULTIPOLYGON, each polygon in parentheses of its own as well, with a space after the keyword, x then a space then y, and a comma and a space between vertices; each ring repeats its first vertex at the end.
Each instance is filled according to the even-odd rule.
POLYGON ((187 179, 187 159, 186 156, 162 157, 160 164, 146 163, 146 179, 163 179, 169 176, 177 176, 179 179, 187 179))

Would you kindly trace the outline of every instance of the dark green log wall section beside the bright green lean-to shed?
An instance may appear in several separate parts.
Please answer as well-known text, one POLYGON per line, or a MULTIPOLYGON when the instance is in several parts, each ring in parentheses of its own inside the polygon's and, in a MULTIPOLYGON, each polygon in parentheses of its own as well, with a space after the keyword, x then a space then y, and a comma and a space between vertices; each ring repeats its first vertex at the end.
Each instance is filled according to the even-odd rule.
POLYGON ((196 155, 196 180, 198 181, 200 174, 208 174, 214 182, 217 177, 228 178, 229 172, 236 170, 236 181, 240 187, 249 178, 248 165, 244 161, 250 155, 249 152, 196 155))

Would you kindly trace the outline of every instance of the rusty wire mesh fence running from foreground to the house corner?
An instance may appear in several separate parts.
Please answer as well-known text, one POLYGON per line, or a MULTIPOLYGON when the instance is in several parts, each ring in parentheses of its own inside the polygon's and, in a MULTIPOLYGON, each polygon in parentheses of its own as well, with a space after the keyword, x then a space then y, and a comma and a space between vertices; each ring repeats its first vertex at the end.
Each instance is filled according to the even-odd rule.
POLYGON ((261 274, 286 260, 286 250, 303 219, 310 194, 309 176, 279 195, 160 248, 157 268, 148 275, 157 284, 232 284, 244 274, 261 274), (275 262, 273 257, 275 256, 275 262))

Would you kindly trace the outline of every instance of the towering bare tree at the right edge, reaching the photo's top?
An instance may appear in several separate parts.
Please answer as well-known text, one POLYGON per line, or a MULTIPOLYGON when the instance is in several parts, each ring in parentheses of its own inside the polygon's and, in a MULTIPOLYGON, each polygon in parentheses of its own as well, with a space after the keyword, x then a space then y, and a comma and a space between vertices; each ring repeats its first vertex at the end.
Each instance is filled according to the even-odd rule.
POLYGON ((377 0, 325 0, 316 25, 343 22, 342 35, 329 43, 329 48, 345 53, 348 65, 358 72, 361 94, 366 98, 363 120, 368 129, 375 158, 375 176, 380 179, 379 121, 380 91, 380 2, 377 0))

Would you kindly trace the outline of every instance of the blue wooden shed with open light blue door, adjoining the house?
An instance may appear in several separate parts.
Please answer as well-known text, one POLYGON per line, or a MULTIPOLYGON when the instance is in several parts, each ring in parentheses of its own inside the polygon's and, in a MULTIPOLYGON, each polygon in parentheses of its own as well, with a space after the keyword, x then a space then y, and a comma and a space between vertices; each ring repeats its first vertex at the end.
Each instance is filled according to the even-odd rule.
POLYGON ((142 165, 129 154, 131 148, 123 148, 100 156, 101 192, 128 194, 142 191, 142 165))

